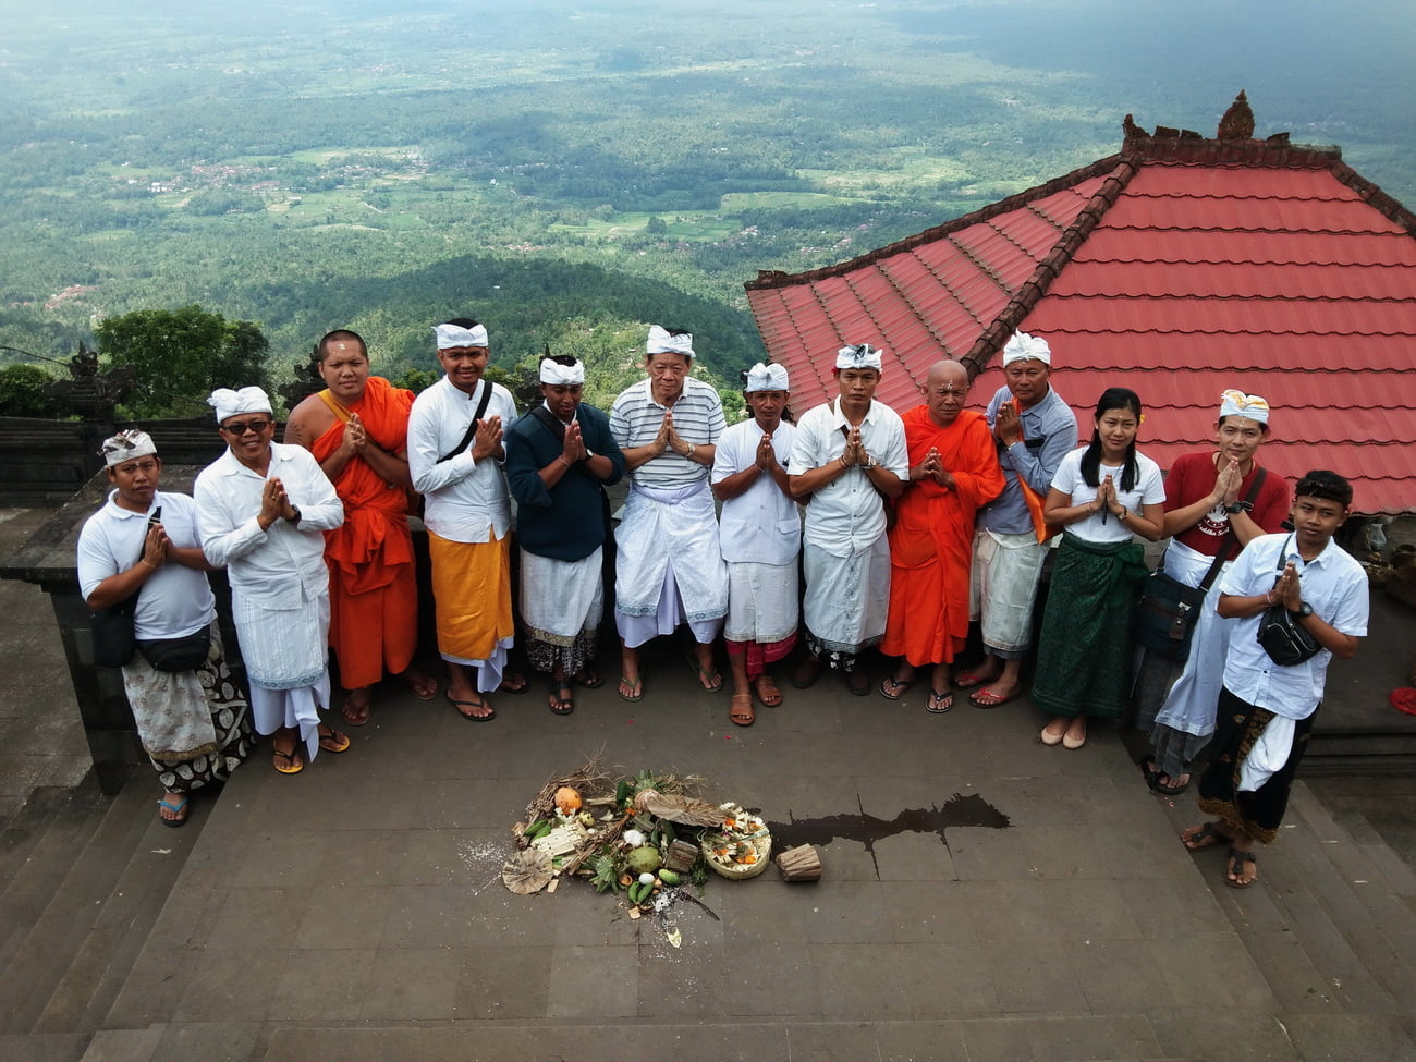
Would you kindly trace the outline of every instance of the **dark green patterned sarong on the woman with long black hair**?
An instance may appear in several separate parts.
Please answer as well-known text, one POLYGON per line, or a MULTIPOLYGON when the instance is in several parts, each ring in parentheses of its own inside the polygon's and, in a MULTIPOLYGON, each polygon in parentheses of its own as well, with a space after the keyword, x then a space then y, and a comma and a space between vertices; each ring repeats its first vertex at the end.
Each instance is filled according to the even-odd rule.
POLYGON ((1120 718, 1131 668, 1131 610, 1144 549, 1062 535, 1038 636, 1032 701, 1048 715, 1120 718))

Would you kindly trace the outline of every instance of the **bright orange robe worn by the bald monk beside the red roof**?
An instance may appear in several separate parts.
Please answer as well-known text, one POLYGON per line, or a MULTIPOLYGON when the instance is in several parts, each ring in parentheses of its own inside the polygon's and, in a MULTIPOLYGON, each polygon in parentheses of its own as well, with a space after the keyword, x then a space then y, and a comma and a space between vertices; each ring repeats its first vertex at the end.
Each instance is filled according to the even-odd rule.
POLYGON ((956 486, 913 481, 895 501, 889 530, 889 616, 881 651, 913 667, 950 663, 969 637, 969 564, 974 515, 1003 493, 1003 470, 983 413, 963 411, 947 428, 927 406, 903 415, 910 467, 937 449, 956 486))

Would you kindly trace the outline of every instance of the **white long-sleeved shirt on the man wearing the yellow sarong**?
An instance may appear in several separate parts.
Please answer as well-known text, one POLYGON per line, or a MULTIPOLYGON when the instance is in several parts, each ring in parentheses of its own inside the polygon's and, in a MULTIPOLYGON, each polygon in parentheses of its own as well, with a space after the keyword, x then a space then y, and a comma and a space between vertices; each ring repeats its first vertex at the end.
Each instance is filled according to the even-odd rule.
POLYGON ((511 500, 500 462, 476 460, 472 442, 455 457, 438 460, 466 436, 486 387, 491 388, 491 399, 483 418, 500 416, 504 436, 517 419, 517 404, 510 391, 486 378, 469 395, 443 377, 413 399, 408 415, 408 472, 413 490, 425 500, 423 523, 453 542, 501 539, 511 527, 511 500))

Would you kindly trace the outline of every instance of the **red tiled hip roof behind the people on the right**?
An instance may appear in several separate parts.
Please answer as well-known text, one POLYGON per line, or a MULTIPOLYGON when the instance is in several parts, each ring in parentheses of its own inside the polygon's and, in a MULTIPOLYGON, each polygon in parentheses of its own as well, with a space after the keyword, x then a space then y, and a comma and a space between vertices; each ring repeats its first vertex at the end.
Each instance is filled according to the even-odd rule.
POLYGON ((1219 392, 1238 387, 1273 406, 1276 472, 1332 469, 1358 511, 1416 511, 1416 217, 1334 147, 1129 125, 1109 159, 746 287, 799 411, 834 394, 844 343, 886 351, 878 396, 896 409, 946 355, 977 374, 981 406, 1021 329, 1051 343, 1087 436, 1100 392, 1130 387, 1147 406, 1141 449, 1168 469, 1212 440, 1219 392))

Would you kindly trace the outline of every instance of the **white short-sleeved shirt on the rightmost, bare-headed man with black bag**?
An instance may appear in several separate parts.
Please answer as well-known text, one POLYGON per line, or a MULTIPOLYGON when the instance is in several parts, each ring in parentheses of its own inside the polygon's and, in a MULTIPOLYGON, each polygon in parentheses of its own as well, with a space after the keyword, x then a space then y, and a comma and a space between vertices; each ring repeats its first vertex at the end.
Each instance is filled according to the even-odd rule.
MULTIPOLYGON (((1321 554, 1304 564, 1289 532, 1260 535, 1250 539, 1235 558, 1219 581, 1219 592, 1253 598, 1272 590, 1280 575, 1279 555, 1284 548, 1287 559, 1293 561, 1298 572, 1303 600, 1313 606, 1317 617, 1342 634, 1364 637, 1371 605, 1366 572, 1337 542, 1328 542, 1321 554)), ((1229 657, 1225 660, 1225 688, 1240 701, 1267 708, 1276 715, 1306 719, 1323 700, 1332 654, 1320 649, 1317 656, 1301 664, 1274 664, 1259 644, 1262 616, 1259 613, 1233 622, 1229 657)))

